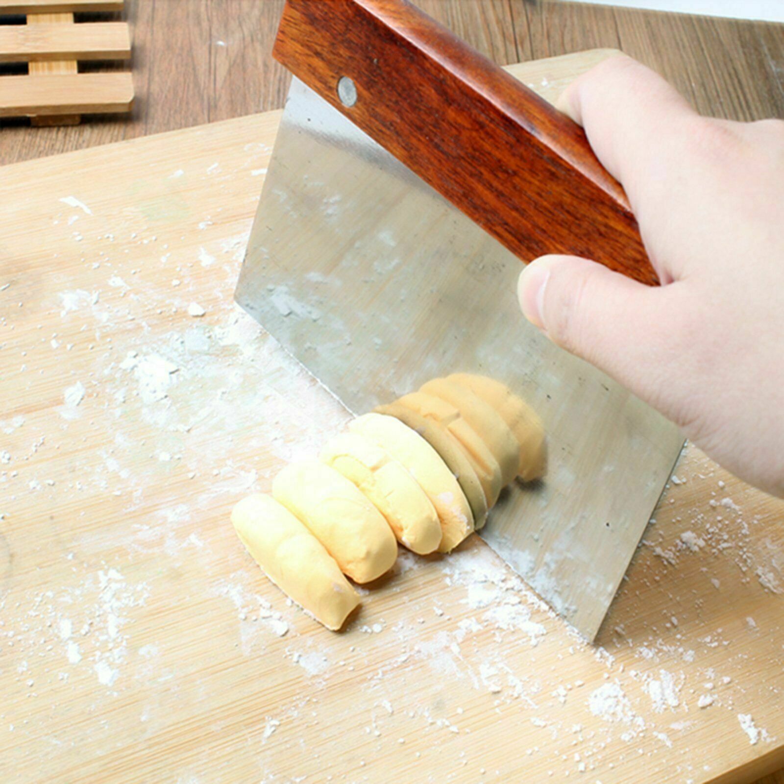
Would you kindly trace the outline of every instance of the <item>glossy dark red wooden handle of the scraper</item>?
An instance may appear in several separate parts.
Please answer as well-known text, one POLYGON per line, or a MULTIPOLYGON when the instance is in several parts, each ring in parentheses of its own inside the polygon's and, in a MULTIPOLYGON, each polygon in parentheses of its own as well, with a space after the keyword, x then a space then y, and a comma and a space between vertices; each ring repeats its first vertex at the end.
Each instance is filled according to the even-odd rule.
POLYGON ((274 56, 522 260, 659 283, 583 129, 405 0, 287 0, 274 56))

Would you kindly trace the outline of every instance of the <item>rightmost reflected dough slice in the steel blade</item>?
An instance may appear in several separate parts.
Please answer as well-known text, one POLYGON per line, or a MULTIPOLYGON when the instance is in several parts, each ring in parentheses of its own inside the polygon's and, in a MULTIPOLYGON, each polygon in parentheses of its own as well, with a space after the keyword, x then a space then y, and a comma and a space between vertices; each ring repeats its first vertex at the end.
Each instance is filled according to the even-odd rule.
POLYGON ((547 447, 542 420, 521 397, 506 384, 487 376, 453 373, 449 379, 471 390, 495 408, 517 439, 519 459, 517 476, 524 481, 543 477, 547 466, 547 447))

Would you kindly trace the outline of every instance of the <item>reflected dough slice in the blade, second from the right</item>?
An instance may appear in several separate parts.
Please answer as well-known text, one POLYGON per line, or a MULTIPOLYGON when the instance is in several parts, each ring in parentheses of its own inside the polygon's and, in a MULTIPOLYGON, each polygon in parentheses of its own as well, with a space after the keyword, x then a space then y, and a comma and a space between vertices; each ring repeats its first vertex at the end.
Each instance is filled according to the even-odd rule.
POLYGON ((488 445, 492 456, 501 466, 501 481, 508 485, 517 475, 520 464, 520 446, 503 416, 495 411, 481 395, 450 379, 433 379, 423 384, 422 392, 441 397, 455 406, 463 419, 470 424, 488 445))

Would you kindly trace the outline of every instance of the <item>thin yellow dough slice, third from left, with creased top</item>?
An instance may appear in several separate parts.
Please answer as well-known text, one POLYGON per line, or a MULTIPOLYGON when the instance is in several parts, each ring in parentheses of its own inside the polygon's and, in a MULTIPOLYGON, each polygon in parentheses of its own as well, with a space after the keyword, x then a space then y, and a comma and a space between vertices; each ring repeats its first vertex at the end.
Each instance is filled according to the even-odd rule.
POLYGON ((379 445, 358 433, 343 433, 319 457, 365 493, 408 550, 426 555, 441 544, 441 523, 430 499, 379 445))

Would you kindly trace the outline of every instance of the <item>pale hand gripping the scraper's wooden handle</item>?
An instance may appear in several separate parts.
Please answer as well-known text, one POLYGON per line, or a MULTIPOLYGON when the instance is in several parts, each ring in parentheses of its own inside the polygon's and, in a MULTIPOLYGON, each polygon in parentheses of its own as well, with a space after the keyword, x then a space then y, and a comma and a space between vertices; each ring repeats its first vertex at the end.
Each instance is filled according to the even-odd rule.
POLYGON ((626 189, 662 285, 543 256, 520 277, 525 316, 784 496, 784 122, 700 117, 626 56, 560 108, 626 189))

